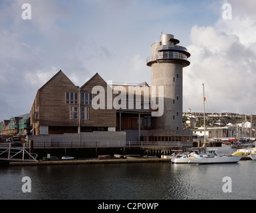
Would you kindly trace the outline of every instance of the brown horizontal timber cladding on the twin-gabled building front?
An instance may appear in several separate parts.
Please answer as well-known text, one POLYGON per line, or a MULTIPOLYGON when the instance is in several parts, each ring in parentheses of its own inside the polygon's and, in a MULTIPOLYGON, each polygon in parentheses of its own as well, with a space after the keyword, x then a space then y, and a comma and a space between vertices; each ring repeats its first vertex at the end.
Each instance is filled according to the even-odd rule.
MULTIPOLYGON (((33 123, 34 127, 37 125, 78 126, 78 96, 81 93, 92 94, 94 86, 102 86, 107 93, 108 85, 98 73, 86 82, 79 91, 79 88, 62 71, 59 71, 37 91, 33 107, 31 108, 31 123, 33 123), (72 96, 74 101, 67 101, 67 93, 68 97, 72 96)), ((105 95, 105 103, 106 100, 107 94, 105 95)), ((81 126, 116 126, 116 110, 114 108, 95 110, 92 108, 92 103, 86 102, 80 105, 80 110, 82 108, 83 112, 86 108, 88 114, 80 119, 81 126)))

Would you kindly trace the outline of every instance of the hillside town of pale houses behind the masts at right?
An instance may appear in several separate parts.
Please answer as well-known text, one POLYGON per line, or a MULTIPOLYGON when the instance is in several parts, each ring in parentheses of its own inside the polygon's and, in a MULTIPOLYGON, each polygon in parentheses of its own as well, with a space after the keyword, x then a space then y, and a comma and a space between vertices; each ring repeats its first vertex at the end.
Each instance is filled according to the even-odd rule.
MULTIPOLYGON (((194 138, 203 138, 203 112, 183 112, 183 128, 193 130, 194 138)), ((225 140, 225 138, 255 138, 255 115, 234 112, 205 112, 207 140, 225 140)))

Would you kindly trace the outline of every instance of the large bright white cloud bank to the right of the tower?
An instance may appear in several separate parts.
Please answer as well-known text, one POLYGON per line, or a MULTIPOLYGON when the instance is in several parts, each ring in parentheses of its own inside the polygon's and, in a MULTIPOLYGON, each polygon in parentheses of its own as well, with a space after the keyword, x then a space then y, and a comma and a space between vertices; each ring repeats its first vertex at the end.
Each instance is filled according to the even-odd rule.
MULTIPOLYGON (((237 7, 238 1, 231 5, 237 7)), ((220 18, 215 26, 192 27, 192 44, 188 46, 191 65, 184 69, 184 85, 189 85, 184 87, 184 110, 202 111, 195 101, 203 97, 202 83, 206 83, 211 112, 245 113, 255 106, 255 14, 248 4, 239 7, 241 14, 235 10, 232 20, 220 18)))

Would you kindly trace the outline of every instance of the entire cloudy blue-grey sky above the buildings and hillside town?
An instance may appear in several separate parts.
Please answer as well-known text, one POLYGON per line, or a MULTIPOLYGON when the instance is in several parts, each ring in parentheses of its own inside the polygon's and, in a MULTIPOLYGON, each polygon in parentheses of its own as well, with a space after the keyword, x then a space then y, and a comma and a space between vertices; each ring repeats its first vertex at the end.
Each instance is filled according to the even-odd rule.
POLYGON ((78 86, 95 73, 150 84, 146 58, 161 33, 191 54, 183 112, 203 111, 205 83, 207 112, 256 114, 255 9, 253 0, 1 0, 0 120, 30 112, 59 70, 78 86))

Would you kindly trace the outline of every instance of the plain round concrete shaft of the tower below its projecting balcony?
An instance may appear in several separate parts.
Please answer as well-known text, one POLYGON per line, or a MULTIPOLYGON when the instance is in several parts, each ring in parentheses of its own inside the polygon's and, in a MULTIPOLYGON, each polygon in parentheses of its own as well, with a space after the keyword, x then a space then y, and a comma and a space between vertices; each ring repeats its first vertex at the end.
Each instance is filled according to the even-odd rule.
POLYGON ((154 117, 154 129, 182 130, 182 65, 154 63, 152 86, 164 86, 164 114, 154 117))

